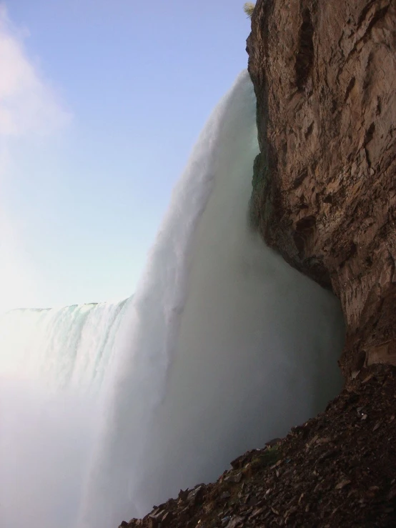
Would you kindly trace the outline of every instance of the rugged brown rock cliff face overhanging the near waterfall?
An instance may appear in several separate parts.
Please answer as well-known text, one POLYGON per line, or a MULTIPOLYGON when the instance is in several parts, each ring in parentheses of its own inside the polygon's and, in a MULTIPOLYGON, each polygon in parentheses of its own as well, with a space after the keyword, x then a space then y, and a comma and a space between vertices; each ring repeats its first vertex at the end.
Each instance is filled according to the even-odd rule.
POLYGON ((258 0, 252 219, 340 297, 350 378, 396 364, 396 1, 258 0))

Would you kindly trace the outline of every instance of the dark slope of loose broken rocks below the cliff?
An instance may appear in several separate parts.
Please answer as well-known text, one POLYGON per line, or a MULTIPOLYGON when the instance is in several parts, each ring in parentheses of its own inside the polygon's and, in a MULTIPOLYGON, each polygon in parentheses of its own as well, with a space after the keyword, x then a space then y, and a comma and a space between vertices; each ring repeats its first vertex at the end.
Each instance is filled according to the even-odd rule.
POLYGON ((324 413, 214 484, 120 527, 396 527, 396 368, 362 370, 324 413))

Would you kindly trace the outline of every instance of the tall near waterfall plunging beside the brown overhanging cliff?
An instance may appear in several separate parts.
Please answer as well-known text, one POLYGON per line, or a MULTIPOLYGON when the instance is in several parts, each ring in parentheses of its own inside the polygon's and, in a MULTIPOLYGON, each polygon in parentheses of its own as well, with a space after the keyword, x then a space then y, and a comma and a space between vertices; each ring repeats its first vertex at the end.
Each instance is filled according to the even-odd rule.
POLYGON ((340 388, 337 300, 249 229, 247 72, 194 148, 127 314, 81 526, 117 526, 312 417, 340 388))

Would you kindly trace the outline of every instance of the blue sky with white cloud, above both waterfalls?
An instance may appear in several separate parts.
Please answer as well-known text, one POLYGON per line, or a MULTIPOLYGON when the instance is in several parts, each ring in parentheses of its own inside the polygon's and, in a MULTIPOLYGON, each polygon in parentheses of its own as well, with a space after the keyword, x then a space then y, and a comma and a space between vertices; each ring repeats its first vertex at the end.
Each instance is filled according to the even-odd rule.
POLYGON ((0 0, 0 312, 134 292, 243 3, 0 0))

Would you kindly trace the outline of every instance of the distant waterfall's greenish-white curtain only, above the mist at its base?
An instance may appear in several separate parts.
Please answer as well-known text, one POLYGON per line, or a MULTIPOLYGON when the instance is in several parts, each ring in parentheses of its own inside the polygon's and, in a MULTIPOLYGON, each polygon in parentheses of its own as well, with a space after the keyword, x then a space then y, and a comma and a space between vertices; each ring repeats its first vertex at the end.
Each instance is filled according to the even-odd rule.
POLYGON ((128 299, 58 309, 16 309, 0 317, 0 374, 91 387, 102 379, 128 299))

